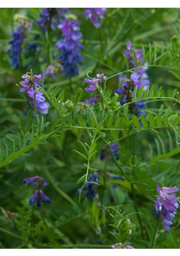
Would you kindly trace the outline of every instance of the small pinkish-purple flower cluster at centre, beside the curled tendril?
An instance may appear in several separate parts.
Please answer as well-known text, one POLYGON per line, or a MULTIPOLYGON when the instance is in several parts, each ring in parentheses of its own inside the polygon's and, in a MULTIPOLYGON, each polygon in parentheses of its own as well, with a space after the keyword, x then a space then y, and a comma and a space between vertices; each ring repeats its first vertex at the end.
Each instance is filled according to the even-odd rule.
MULTIPOLYGON (((87 84, 89 84, 89 87, 85 88, 87 92, 94 92, 98 90, 97 85, 101 86, 102 89, 104 88, 104 82, 106 81, 107 76, 104 76, 104 74, 97 74, 96 76, 97 78, 93 77, 93 79, 89 79, 89 78, 85 79, 87 84)), ((86 99, 86 103, 91 103, 95 105, 100 100, 101 100, 101 94, 96 94, 95 96, 93 96, 93 98, 86 99)))

